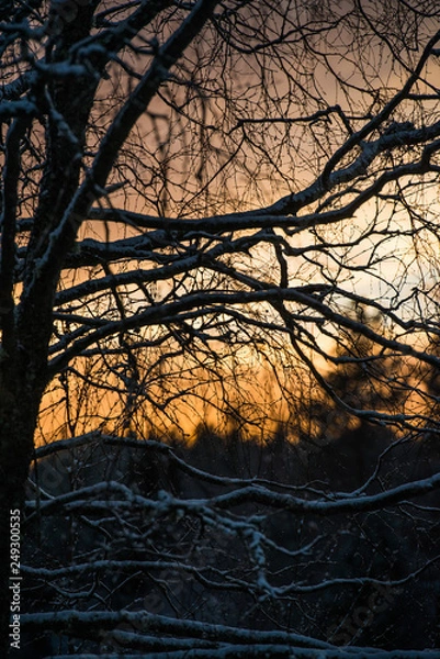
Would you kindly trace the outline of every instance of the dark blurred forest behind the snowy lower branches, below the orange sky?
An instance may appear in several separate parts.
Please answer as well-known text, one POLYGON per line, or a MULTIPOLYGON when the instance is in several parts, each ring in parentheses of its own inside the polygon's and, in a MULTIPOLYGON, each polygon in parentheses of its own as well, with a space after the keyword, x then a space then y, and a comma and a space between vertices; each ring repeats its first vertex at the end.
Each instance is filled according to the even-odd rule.
MULTIPOLYGON (((259 515, 268 540, 266 574, 279 590, 260 597, 246 538, 210 524, 196 511, 148 512, 133 503, 121 520, 114 504, 121 494, 98 490, 91 500, 106 502, 106 514, 80 503, 77 509, 47 505, 69 492, 72 501, 87 501, 84 489, 111 481, 151 505, 167 496, 212 500, 234 491, 236 478, 241 485, 251 479, 262 487, 271 481, 273 491, 306 501, 331 501, 336 493, 359 488, 365 495, 376 494, 438 471, 435 439, 397 439, 390 431, 361 423, 330 442, 323 436, 292 443, 282 426, 267 443, 245 440, 238 431, 221 435, 210 428, 201 428, 189 446, 171 443, 171 450, 154 438, 136 446, 125 442, 131 447, 101 437, 54 451, 34 467, 37 485, 30 484, 26 520, 33 540, 23 557, 26 611, 70 610, 74 603, 78 611, 93 611, 104 604, 108 611, 145 610, 255 629, 271 629, 277 621, 280 629, 335 645, 438 647, 436 492, 379 511, 324 516, 253 503, 237 506, 232 523, 259 515), (225 477, 224 482, 210 482, 196 470, 225 477), (115 568, 111 561, 126 562, 115 568), (314 589, 319 583, 328 585, 314 589)), ((125 647, 124 637, 104 632, 98 640, 95 635, 37 636, 45 638, 43 656, 125 647)))

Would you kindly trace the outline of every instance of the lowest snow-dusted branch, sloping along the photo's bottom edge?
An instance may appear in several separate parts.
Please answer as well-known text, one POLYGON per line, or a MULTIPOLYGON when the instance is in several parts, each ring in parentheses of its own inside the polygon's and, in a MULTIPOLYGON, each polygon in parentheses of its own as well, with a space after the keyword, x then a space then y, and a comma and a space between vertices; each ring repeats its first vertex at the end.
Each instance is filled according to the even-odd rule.
MULTIPOLYGON (((337 648, 331 644, 319 641, 317 639, 301 636, 286 632, 259 632, 256 629, 239 629, 237 627, 228 627, 225 625, 212 625, 208 623, 174 621, 165 616, 151 615, 146 612, 128 612, 121 611, 117 613, 108 612, 53 612, 48 614, 24 614, 22 615, 22 625, 24 629, 37 629, 38 626, 54 632, 69 630, 78 636, 92 636, 97 632, 101 633, 105 638, 105 632, 113 629, 121 623, 127 623, 139 629, 132 637, 124 636, 124 640, 128 641, 129 647, 133 644, 139 643, 143 645, 143 633, 160 633, 172 634, 182 638, 182 645, 187 646, 181 650, 172 650, 172 646, 179 645, 179 640, 167 638, 159 640, 154 638, 151 644, 155 650, 148 652, 148 659, 233 659, 242 657, 266 658, 268 655, 272 658, 294 659, 303 657, 304 659, 429 659, 437 656, 436 651, 419 651, 419 650, 377 650, 374 648, 364 647, 346 647, 337 648), (210 649, 188 647, 185 637, 191 638, 190 644, 198 645, 199 640, 212 641, 215 644, 210 649), (169 643, 169 645, 168 645, 169 643), (221 645, 221 647, 218 647, 221 645), (161 651, 158 647, 161 646, 161 651), (217 646, 217 647, 216 647, 217 646)), ((117 637, 117 633, 116 633, 117 637)), ((122 640, 122 635, 121 635, 122 640)), ((146 646, 148 639, 146 640, 146 646)), ((115 658, 121 655, 100 654, 100 657, 108 656, 115 658)), ((131 655, 125 655, 129 657, 131 655)), ((133 655, 133 657, 138 655, 133 655)), ((63 655, 58 655, 60 659, 63 655)), ((79 655, 79 657, 92 658, 95 655, 79 655)))

